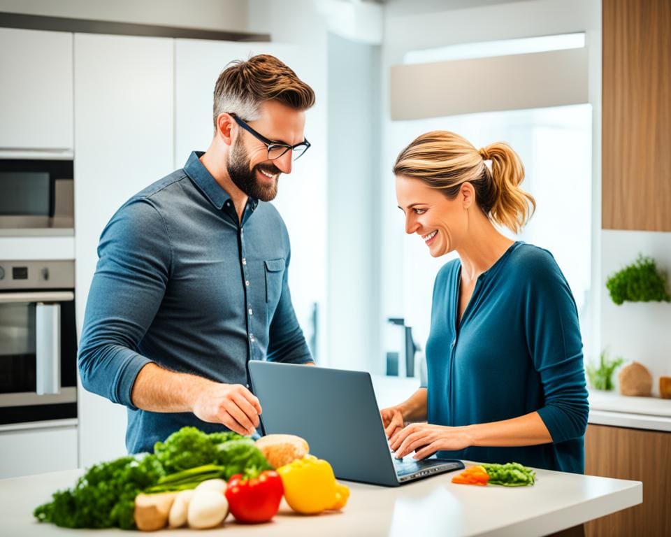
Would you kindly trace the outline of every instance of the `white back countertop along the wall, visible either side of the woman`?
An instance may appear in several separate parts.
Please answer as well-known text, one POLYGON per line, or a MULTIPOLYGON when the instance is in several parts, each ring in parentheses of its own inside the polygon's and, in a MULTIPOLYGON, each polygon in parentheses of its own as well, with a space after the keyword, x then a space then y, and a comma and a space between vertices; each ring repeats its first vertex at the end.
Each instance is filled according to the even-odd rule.
MULTIPOLYGON (((418 387, 417 378, 373 375, 380 408, 404 401, 418 387)), ((589 423, 671 432, 671 399, 629 397, 616 392, 589 391, 589 423)))

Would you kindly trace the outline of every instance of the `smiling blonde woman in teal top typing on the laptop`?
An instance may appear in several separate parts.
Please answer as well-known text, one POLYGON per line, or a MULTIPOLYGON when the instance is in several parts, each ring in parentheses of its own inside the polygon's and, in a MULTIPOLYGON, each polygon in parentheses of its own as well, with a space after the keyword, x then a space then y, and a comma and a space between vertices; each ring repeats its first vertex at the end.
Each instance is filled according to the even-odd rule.
POLYGON ((575 301, 550 252, 495 225, 517 233, 535 210, 519 157, 505 143, 477 150, 433 131, 398 155, 394 175, 405 231, 433 257, 459 255, 435 280, 428 385, 381 411, 396 457, 583 473, 589 407, 575 301))

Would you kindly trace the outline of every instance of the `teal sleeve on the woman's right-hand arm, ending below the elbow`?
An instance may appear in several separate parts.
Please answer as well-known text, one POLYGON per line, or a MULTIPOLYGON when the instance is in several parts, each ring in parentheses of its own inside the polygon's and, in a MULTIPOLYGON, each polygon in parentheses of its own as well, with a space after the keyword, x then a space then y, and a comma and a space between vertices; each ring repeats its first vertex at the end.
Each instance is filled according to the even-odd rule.
POLYGON ((552 441, 560 443, 583 436, 589 414, 578 313, 568 282, 549 253, 531 271, 524 324, 544 394, 538 414, 552 441))

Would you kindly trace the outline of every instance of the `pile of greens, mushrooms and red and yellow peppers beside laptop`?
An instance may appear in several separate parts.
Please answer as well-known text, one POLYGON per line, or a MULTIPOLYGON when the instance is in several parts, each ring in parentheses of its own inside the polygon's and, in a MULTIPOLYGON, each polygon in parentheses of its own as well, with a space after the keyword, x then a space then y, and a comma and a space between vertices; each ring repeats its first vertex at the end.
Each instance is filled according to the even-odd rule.
POLYGON ((183 427, 153 453, 92 466, 34 515, 67 528, 205 529, 222 524, 229 510, 238 522, 268 522, 282 496, 296 512, 316 514, 342 509, 349 489, 328 462, 308 454, 303 438, 269 435, 257 445, 232 432, 183 427))

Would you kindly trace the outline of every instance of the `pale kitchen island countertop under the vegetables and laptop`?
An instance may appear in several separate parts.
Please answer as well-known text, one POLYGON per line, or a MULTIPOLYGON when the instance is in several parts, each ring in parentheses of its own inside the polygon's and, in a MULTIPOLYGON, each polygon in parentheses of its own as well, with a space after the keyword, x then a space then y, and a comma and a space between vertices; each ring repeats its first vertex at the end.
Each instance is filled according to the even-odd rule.
MULTIPOLYGON (((467 464, 468 466, 468 464, 467 464)), ((0 480, 2 536, 129 536, 121 529, 62 529, 37 522, 33 509, 74 485, 82 470, 0 480)), ((542 536, 642 502, 641 482, 537 471, 532 487, 454 485, 454 473, 402 487, 350 483, 341 513, 302 516, 282 503, 268 524, 245 526, 231 515, 213 530, 163 530, 160 535, 222 536, 542 536)))

